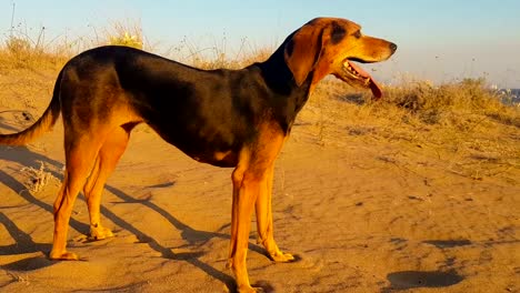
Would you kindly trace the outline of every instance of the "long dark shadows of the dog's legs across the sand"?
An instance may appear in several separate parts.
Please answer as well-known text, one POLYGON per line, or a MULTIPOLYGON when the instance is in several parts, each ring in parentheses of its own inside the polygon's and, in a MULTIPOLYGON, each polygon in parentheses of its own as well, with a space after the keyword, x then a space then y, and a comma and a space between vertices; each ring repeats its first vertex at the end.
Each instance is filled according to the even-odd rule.
MULTIPOLYGON (((40 162, 44 162, 46 164, 52 165, 53 166, 52 169, 56 169, 56 170, 61 170, 63 166, 61 162, 52 160, 46 155, 36 153, 26 146, 16 146, 16 148, 3 146, 3 145, 0 146, 0 160, 17 162, 24 166, 32 166, 34 169, 38 169, 40 166, 40 162)), ((53 171, 51 171, 51 173, 52 175, 54 175, 56 178, 60 180, 62 180, 63 178, 62 174, 60 173, 57 173, 53 171)), ((41 201, 40 199, 36 198, 31 192, 27 190, 27 188, 21 182, 19 182, 17 179, 14 179, 12 175, 8 174, 3 170, 0 170, 0 183, 7 185, 12 191, 20 194, 20 196, 22 196, 26 201, 30 202, 31 204, 34 204, 52 214, 53 208, 51 204, 46 203, 41 201)), ((114 188, 111 185, 106 185, 106 190, 111 192, 116 196, 118 196, 123 202, 141 203, 142 205, 162 215, 166 220, 168 220, 173 225, 174 229, 181 231, 182 239, 188 242, 187 245, 203 245, 206 242, 208 242, 209 240, 213 238, 220 238, 220 239, 230 238, 228 234, 220 232, 224 230, 226 228, 228 228, 229 224, 223 225, 216 232, 196 230, 187 225, 186 223, 182 223, 181 221, 179 221, 179 219, 177 219, 176 216, 173 216, 168 211, 166 211, 164 209, 162 209, 161 206, 157 205, 153 202, 136 200, 134 198, 130 196, 129 194, 124 193, 118 188, 114 188)), ((83 198, 84 196, 78 196, 78 199, 81 199, 84 201, 83 198)), ((140 231, 139 229, 133 226, 131 223, 124 221, 123 219, 121 219, 120 216, 118 216, 117 214, 114 214, 113 212, 111 212, 109 209, 107 209, 103 205, 101 205, 101 213, 107 219, 112 221, 116 225, 118 225, 119 228, 129 231, 142 242, 146 242, 152 250, 161 253, 163 257, 188 262, 192 264, 193 266, 199 267, 200 270, 206 272, 208 275, 217 280, 220 280, 222 283, 224 283, 228 286, 230 292, 234 291, 233 277, 231 277, 230 275, 226 273, 222 273, 221 271, 199 260, 199 257, 203 253, 176 254, 171 251, 170 247, 166 247, 161 245, 152 236, 140 231)), ((17 225, 16 221, 12 221, 11 219, 6 216, 1 212, 0 212, 0 223, 3 224, 3 226, 7 229, 11 238, 16 241, 16 244, 0 246, 0 255, 36 253, 36 252, 41 252, 43 254, 47 254, 50 251, 51 245, 49 243, 33 242, 30 234, 23 232, 17 225)), ((70 226, 83 234, 88 234, 90 231, 90 228, 88 224, 81 223, 74 220, 73 216, 70 219, 70 226)), ((266 254, 263 250, 261 250, 260 247, 256 245, 249 245, 249 249, 258 253, 266 254)), ((17 261, 10 264, 1 265, 0 267, 3 270, 11 270, 11 271, 12 270, 31 271, 31 270, 40 269, 42 266, 52 265, 53 263, 56 262, 49 261, 46 257, 29 257, 29 259, 17 261)))

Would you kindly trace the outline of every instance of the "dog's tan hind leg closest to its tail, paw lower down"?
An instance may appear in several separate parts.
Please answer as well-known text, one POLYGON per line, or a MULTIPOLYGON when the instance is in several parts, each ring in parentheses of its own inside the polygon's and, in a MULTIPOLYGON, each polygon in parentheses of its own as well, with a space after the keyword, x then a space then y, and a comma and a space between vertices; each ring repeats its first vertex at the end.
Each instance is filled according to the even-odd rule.
POLYGON ((67 252, 67 232, 70 214, 87 178, 92 170, 101 142, 98 135, 79 134, 67 129, 66 174, 58 198, 54 201, 54 236, 50 259, 78 260, 74 253, 67 252))

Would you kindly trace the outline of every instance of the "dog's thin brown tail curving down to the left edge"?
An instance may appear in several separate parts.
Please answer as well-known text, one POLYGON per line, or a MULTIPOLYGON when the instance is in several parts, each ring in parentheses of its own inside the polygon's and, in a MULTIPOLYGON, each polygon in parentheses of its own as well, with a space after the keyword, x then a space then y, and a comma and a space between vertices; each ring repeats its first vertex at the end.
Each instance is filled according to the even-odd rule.
POLYGON ((58 74, 58 79, 54 83, 54 91, 52 93, 52 100, 41 118, 34 124, 18 133, 0 134, 0 144, 23 145, 52 129, 60 117, 60 88, 62 75, 63 70, 58 74))

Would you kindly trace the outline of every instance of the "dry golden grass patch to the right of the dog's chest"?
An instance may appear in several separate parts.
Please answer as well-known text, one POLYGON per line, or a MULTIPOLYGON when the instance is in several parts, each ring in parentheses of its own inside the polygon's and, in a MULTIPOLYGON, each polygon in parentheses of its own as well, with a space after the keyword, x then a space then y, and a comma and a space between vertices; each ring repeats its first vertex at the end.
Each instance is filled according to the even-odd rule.
POLYGON ((383 100, 372 102, 368 92, 326 80, 309 102, 320 112, 316 134, 329 138, 322 143, 349 134, 367 143, 399 145, 402 153, 426 155, 448 172, 474 180, 508 173, 506 180, 518 181, 520 108, 501 103, 503 97, 483 80, 439 87, 410 82, 384 93, 383 100))

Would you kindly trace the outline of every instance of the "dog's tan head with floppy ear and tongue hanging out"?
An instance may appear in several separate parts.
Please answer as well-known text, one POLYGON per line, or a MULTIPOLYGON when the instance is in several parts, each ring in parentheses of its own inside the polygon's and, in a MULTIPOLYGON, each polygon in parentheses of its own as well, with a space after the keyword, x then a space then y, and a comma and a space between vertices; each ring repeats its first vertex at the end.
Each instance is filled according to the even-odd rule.
POLYGON ((301 85, 312 72, 311 88, 328 74, 353 87, 370 88, 381 98, 372 77, 354 62, 384 61, 396 51, 392 42, 364 36, 361 27, 338 18, 317 18, 294 31, 284 42, 286 63, 301 85))

